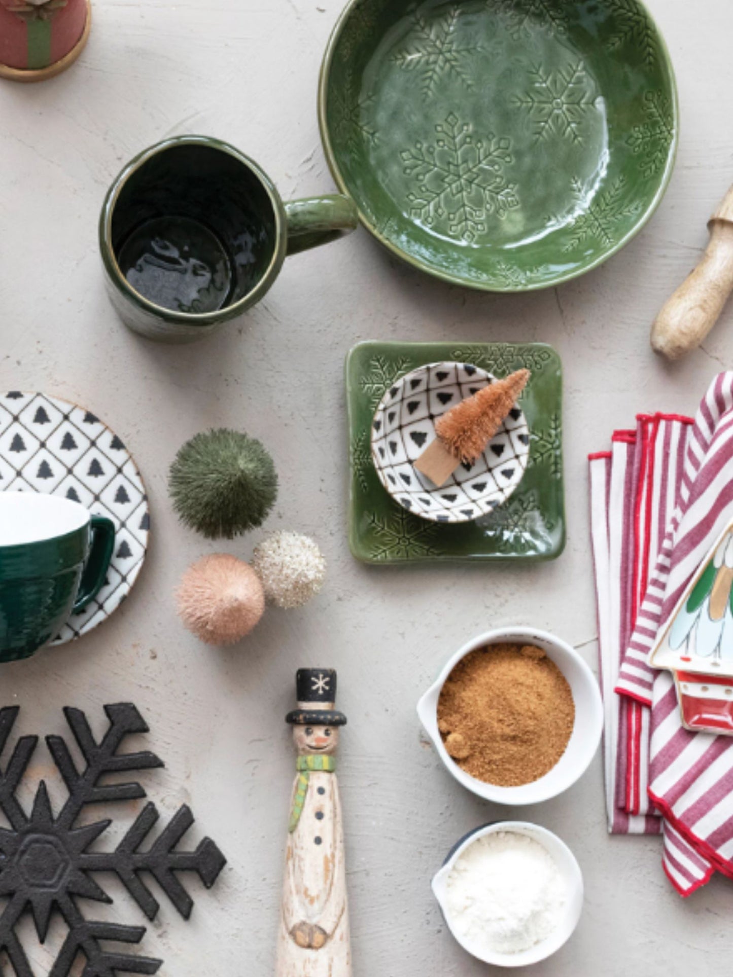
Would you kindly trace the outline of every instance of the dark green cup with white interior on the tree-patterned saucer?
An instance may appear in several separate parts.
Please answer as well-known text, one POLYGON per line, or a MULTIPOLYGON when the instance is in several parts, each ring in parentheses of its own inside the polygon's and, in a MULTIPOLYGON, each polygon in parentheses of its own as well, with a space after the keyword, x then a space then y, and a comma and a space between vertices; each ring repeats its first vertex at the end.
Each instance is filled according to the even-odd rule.
POLYGON ((28 658, 104 585, 114 524, 78 502, 0 491, 0 661, 28 658))

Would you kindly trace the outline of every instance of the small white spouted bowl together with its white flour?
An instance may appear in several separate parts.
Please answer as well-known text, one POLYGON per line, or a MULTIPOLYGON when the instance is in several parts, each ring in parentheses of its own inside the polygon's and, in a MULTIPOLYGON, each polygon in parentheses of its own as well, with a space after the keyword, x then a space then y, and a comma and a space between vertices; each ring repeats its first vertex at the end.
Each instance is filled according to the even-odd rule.
POLYGON ((501 967, 539 963, 571 937, 582 873, 557 835, 524 821, 477 828, 453 848, 433 892, 463 949, 501 967))

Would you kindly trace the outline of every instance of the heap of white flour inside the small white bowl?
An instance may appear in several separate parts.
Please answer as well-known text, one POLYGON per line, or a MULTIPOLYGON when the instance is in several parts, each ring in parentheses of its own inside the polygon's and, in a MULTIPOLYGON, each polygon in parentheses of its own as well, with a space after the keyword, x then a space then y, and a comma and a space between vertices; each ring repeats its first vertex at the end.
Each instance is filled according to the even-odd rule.
POLYGON ((496 831, 463 852, 448 878, 453 929, 478 951, 516 954, 557 927, 567 893, 549 852, 534 838, 496 831))

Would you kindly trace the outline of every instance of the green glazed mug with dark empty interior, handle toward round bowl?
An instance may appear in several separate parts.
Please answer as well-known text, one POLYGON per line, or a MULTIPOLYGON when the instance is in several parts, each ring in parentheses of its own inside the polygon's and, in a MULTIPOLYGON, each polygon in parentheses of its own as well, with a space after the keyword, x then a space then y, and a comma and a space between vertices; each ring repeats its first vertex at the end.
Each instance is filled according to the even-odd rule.
POLYGON ((100 247, 112 304, 135 332, 185 343, 237 319, 286 255, 357 227, 348 196, 283 203, 244 153, 177 136, 136 156, 110 187, 100 247))

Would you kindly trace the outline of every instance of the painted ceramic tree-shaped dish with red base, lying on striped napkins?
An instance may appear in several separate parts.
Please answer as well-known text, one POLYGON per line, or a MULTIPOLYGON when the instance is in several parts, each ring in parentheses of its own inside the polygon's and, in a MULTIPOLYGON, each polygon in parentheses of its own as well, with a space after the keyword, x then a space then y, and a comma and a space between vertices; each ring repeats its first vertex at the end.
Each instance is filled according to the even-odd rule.
POLYGON ((733 522, 687 585, 650 661, 674 673, 686 729, 733 736, 733 522))

